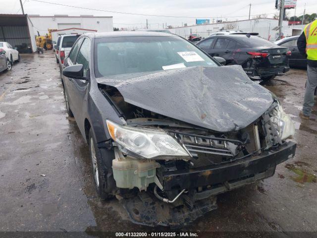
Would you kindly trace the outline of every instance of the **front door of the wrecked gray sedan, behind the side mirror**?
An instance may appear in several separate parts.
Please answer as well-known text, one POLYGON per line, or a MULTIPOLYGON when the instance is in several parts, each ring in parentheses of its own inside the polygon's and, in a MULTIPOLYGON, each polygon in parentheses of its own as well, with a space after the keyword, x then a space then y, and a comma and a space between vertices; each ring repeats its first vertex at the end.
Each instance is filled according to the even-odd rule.
MULTIPOLYGON (((89 73, 90 73, 89 56, 90 56, 90 40, 85 37, 83 40, 83 43, 80 46, 80 49, 78 51, 77 58, 76 58, 76 64, 82 64, 84 67, 84 77, 89 77, 89 73)), ((88 80, 73 79, 73 78, 70 79, 69 96, 73 104, 72 112, 78 123, 81 121, 84 121, 82 119, 83 117, 82 104, 88 90, 88 82, 89 82, 88 80)))

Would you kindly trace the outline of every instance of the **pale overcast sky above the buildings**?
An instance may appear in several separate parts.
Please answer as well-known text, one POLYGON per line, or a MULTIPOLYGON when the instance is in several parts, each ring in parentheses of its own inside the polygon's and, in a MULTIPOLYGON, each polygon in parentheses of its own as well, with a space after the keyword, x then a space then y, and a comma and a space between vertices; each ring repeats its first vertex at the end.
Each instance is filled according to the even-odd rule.
MULTIPOLYGON (((33 0, 22 0, 24 11, 28 14, 53 15, 68 14, 78 16, 93 14, 96 16, 113 16, 114 27, 144 27, 148 19, 151 28, 162 28, 163 23, 172 26, 195 24, 195 17, 216 20, 243 20, 248 19, 249 5, 251 18, 258 14, 267 14, 272 17, 276 13, 275 0, 43 0, 48 2, 67 4, 80 7, 96 8, 109 11, 120 11, 138 14, 186 16, 193 18, 156 17, 131 14, 118 14, 96 10, 79 9, 67 6, 53 5, 33 0), (142 24, 142 25, 141 25, 142 24)), ((21 13, 19 0, 0 0, 0 13, 21 13)), ((302 15, 306 3, 306 12, 317 12, 317 0, 297 0, 296 15, 302 15)), ((294 9, 287 10, 290 16, 294 9)))

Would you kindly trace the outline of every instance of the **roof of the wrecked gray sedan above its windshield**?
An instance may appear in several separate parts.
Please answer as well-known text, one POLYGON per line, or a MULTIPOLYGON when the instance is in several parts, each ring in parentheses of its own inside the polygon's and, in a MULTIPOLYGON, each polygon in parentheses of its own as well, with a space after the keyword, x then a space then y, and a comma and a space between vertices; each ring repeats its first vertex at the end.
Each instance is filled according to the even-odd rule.
POLYGON ((85 36, 90 38, 110 38, 110 37, 133 37, 133 36, 168 36, 177 37, 176 35, 158 32, 158 31, 112 31, 112 32, 96 32, 96 33, 85 33, 85 36))

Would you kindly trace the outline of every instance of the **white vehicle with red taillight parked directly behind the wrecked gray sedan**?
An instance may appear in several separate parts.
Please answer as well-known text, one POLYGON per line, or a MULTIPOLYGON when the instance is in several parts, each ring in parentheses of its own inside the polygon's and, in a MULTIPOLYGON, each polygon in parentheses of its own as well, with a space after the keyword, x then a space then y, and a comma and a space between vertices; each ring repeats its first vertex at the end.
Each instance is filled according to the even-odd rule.
POLYGON ((80 35, 61 35, 59 39, 59 44, 57 43, 55 46, 55 57, 56 62, 59 64, 60 76, 64 59, 68 56, 73 44, 79 36, 80 35))

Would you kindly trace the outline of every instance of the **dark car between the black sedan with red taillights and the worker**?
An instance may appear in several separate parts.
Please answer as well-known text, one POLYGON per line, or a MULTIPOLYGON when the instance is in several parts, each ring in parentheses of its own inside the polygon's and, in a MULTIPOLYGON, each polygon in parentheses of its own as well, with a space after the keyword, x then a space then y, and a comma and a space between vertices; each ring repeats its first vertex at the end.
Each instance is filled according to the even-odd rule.
POLYGON ((289 56, 289 65, 292 67, 307 67, 307 59, 302 56, 297 48, 299 36, 291 36, 274 42, 278 46, 287 47, 292 54, 289 56))

